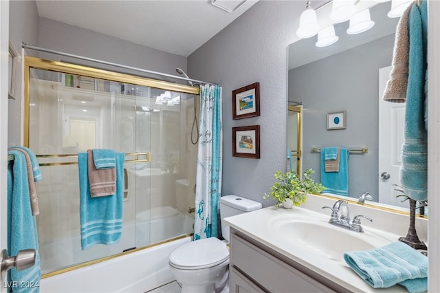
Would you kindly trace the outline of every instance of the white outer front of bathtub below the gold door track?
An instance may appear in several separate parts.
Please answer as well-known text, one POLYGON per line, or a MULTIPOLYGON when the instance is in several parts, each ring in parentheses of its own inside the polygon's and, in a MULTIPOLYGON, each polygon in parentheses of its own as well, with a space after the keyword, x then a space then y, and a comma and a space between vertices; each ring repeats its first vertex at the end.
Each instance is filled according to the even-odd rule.
POLYGON ((41 280, 40 292, 142 293, 152 290, 175 280, 168 265, 168 255, 189 241, 191 237, 184 237, 85 268, 50 276, 41 280))

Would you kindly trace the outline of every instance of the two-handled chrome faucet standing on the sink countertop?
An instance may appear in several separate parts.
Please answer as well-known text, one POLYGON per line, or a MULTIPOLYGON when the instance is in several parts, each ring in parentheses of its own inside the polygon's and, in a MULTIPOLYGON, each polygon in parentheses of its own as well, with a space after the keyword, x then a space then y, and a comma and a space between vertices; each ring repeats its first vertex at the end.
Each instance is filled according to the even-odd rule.
POLYGON ((360 232, 360 233, 364 232, 364 229, 362 228, 360 223, 361 217, 368 219, 369 221, 373 221, 372 219, 364 215, 357 215, 354 217, 353 222, 350 223, 349 203, 342 199, 338 200, 338 202, 333 204, 333 208, 329 206, 322 206, 322 208, 331 209, 331 216, 329 219, 330 224, 347 228, 349 230, 353 230, 356 232, 360 232), (339 212, 340 212, 340 216, 339 216, 339 212))

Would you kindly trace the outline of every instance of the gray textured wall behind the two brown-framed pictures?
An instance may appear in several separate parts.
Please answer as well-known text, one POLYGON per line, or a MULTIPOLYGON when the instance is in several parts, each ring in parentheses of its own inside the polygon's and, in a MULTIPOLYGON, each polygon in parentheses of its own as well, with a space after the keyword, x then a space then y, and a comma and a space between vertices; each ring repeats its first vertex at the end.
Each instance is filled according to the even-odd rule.
MULTIPOLYGON (((314 7, 325 1, 314 1, 314 7)), ((223 195, 262 202, 287 166, 287 45, 305 1, 259 1, 188 57, 192 78, 223 87, 223 195), (261 116, 232 120, 232 91, 260 83, 261 116), (261 158, 232 157, 232 127, 261 125, 261 158)))

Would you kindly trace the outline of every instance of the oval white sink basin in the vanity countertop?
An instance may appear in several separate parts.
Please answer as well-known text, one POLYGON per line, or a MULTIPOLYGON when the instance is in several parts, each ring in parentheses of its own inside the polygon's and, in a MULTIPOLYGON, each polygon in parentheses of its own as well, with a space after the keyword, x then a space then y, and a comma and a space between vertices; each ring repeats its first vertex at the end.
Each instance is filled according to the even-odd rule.
POLYGON ((344 263, 344 252, 366 250, 390 243, 388 239, 380 235, 371 232, 355 232, 312 217, 281 218, 272 221, 270 226, 278 237, 292 245, 342 263, 344 263))

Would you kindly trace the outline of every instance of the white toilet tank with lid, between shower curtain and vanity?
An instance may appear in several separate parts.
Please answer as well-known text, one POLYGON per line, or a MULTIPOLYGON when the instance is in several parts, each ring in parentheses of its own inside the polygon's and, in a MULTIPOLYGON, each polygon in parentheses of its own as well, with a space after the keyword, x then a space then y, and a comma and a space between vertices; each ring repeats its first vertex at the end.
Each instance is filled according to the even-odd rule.
POLYGON ((221 235, 223 238, 229 242, 229 225, 223 221, 224 218, 259 210, 262 207, 260 202, 236 195, 220 197, 221 235))

